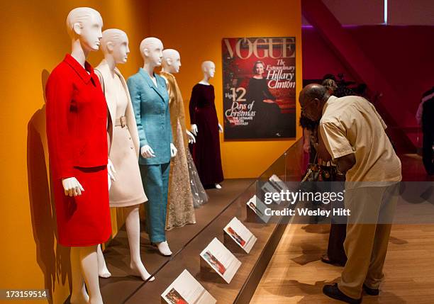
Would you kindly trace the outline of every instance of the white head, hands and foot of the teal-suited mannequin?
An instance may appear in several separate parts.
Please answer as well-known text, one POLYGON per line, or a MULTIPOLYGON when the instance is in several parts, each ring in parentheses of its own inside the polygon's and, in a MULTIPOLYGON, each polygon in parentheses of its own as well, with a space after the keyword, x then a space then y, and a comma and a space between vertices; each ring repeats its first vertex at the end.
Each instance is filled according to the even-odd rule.
MULTIPOLYGON (((162 64, 162 50, 163 44, 160 39, 155 37, 148 37, 142 40, 140 43, 140 54, 143 58, 143 70, 147 72, 150 79, 157 86, 157 79, 154 76, 155 67, 160 67, 162 64)), ((150 145, 144 145, 140 148, 140 154, 145 158, 155 157, 155 153, 150 145)), ((175 157, 177 155, 177 148, 173 142, 170 142, 170 156, 175 157)), ((158 250, 162 255, 170 256, 172 251, 169 248, 167 241, 156 243, 158 250)))

